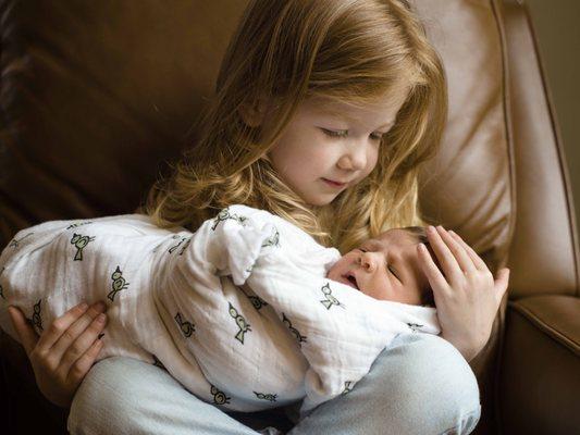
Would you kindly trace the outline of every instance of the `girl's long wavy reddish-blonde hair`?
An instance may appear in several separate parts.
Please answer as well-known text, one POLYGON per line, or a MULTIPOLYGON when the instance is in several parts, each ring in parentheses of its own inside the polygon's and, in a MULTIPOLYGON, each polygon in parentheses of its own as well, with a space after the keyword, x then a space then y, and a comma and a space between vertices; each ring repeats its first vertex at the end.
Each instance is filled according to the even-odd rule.
POLYGON ((198 139, 153 185, 145 212, 162 227, 195 231, 222 208, 245 203, 344 252, 387 228, 424 224, 417 174, 436 152, 446 113, 441 60, 407 1, 254 0, 223 59, 198 139), (363 105, 400 86, 408 97, 383 136, 377 166, 358 185, 312 207, 277 176, 268 151, 305 99, 363 105), (272 103, 269 122, 248 125, 244 108, 264 100, 272 103))

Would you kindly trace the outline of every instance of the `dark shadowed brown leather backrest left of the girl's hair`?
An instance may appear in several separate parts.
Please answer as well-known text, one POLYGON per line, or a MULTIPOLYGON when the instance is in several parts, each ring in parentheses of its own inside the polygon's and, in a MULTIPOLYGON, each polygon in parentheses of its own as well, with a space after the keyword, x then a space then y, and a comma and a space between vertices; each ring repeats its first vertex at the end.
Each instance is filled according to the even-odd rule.
POLYGON ((0 2, 0 244, 133 212, 190 140, 243 1, 0 2))

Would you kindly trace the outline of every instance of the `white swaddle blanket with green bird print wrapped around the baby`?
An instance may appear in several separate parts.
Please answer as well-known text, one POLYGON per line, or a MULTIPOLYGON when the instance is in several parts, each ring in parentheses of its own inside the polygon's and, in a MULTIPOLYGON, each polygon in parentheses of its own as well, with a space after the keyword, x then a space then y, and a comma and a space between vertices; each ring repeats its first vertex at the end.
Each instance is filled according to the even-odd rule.
POLYGON ((17 233, 0 256, 0 326, 17 339, 9 304, 40 333, 73 306, 104 300, 99 359, 164 366, 229 410, 304 399, 305 414, 347 394, 396 335, 440 333, 434 308, 328 279, 340 257, 246 206, 195 233, 143 214, 46 222, 17 233))

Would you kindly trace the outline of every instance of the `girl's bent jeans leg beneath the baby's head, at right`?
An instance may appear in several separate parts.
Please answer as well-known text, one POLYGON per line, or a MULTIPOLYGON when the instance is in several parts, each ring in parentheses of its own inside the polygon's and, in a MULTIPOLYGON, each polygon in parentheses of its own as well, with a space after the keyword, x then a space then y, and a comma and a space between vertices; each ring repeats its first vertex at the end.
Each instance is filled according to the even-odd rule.
POLYGON ((455 347, 439 336, 406 334, 347 395, 320 405, 291 434, 469 434, 480 412, 476 376, 455 347))

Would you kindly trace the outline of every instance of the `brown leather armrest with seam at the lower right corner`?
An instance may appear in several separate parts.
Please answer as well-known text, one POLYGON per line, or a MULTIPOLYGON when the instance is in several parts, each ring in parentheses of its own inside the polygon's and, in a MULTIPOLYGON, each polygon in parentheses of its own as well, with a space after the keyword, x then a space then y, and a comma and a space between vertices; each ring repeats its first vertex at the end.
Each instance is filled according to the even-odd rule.
POLYGON ((571 434, 580 427, 580 298, 509 302, 499 409, 504 434, 571 434))

